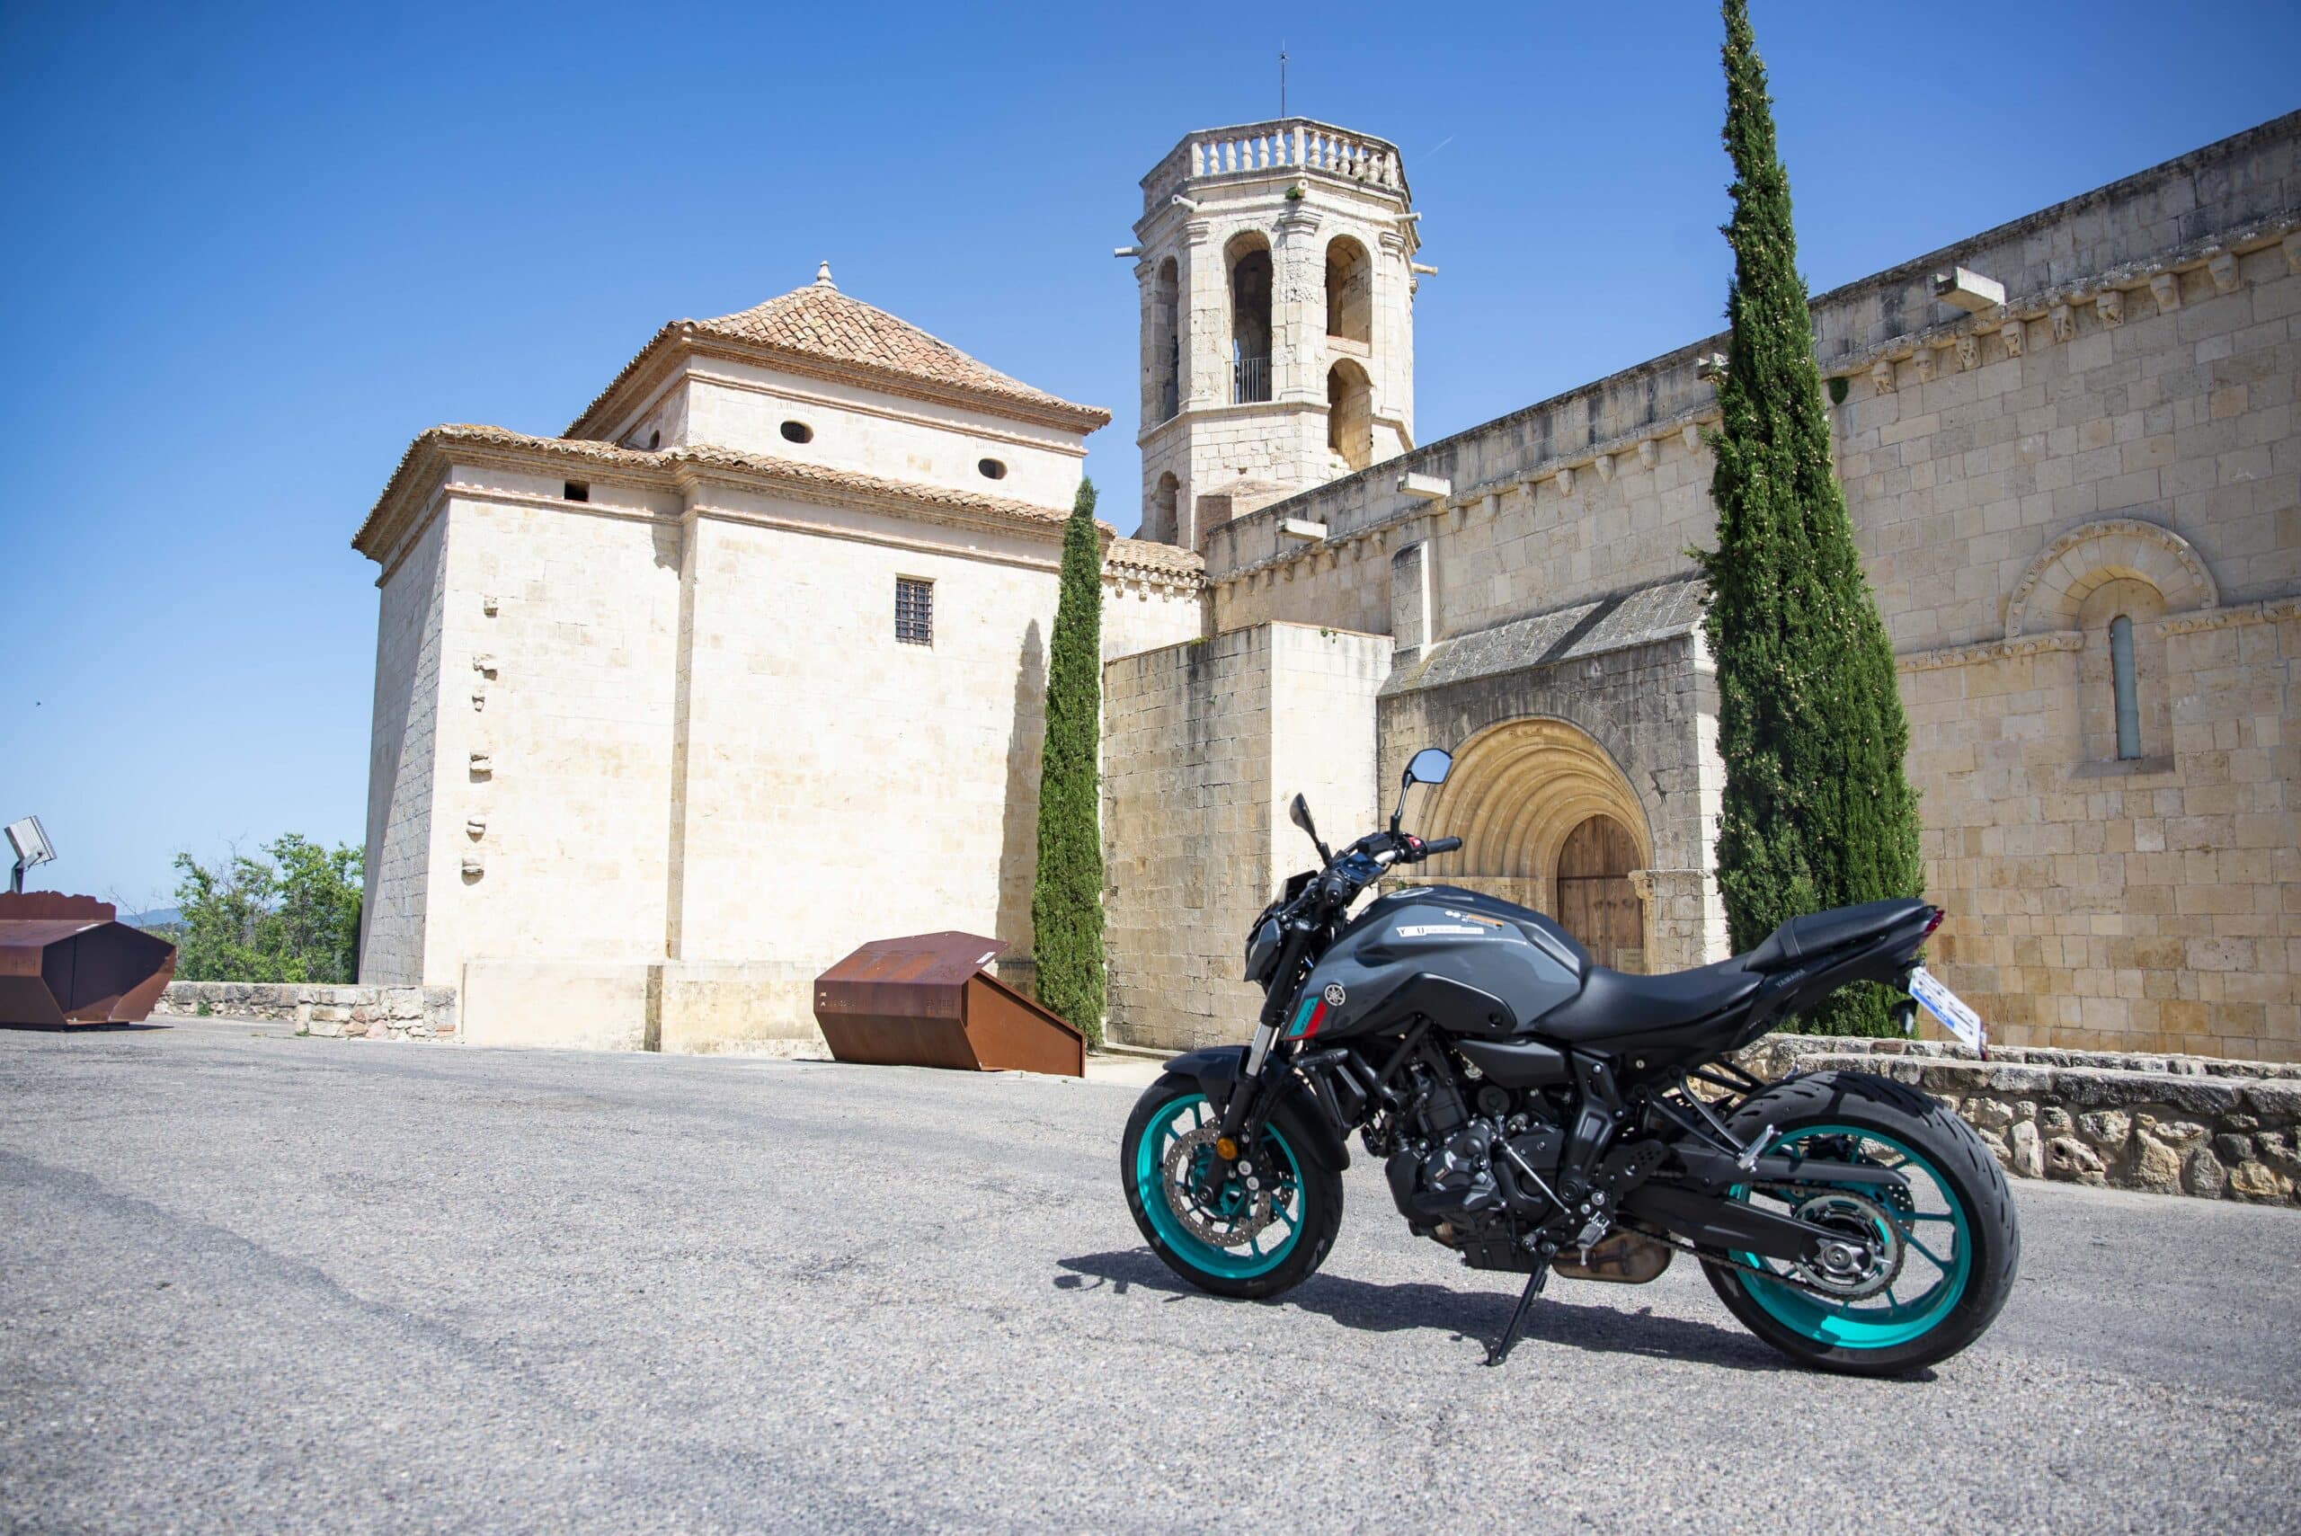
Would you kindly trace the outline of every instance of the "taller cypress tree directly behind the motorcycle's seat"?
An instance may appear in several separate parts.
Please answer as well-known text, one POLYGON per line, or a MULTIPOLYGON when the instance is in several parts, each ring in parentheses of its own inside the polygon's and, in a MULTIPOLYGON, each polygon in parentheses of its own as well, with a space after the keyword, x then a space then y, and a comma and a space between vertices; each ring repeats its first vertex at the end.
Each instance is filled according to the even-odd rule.
MULTIPOLYGON (((1829 462, 1765 64, 1749 0, 1723 5, 1733 345, 1719 382, 1723 421, 1710 435, 1719 547, 1700 561, 1726 757, 1719 890, 1740 952, 1799 913, 1914 897, 1924 874, 1917 796, 1903 777, 1910 724, 1829 462)), ((1889 1005, 1882 986, 1857 986, 1806 1028, 1885 1035, 1889 1005)))

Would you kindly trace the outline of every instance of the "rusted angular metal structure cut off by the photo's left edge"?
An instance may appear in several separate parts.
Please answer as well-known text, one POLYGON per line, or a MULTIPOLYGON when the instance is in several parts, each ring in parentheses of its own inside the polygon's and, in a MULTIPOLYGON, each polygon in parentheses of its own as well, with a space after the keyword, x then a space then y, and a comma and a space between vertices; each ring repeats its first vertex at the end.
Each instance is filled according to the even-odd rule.
POLYGON ((136 1023, 175 977, 175 945, 110 901, 0 892, 0 1023, 136 1023))

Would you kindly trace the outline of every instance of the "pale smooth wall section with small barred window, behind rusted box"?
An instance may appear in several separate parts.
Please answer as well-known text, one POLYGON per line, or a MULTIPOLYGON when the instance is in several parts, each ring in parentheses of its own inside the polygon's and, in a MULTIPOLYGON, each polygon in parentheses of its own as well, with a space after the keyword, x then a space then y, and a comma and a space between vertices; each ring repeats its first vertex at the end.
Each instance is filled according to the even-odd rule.
POLYGON ((711 982, 741 996, 688 1009, 697 1039, 812 1039, 812 980, 865 940, 964 929, 1026 954, 1061 527, 897 545, 895 520, 817 538, 757 517, 798 508, 709 501, 688 536, 665 1003, 700 1007, 711 982), (934 584, 934 644, 895 637, 900 577, 934 584))

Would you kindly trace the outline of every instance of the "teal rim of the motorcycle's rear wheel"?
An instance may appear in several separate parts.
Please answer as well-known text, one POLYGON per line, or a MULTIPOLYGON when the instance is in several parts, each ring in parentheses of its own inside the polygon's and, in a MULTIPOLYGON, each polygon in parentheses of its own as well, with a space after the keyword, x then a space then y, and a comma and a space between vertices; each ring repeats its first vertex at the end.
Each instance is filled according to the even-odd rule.
MULTIPOLYGON (((1880 1297, 1864 1299, 1820 1297, 1746 1269, 1737 1269, 1735 1278, 1774 1322, 1818 1345, 1891 1350, 1924 1338, 1956 1311, 1974 1272, 1972 1214, 1965 1209, 1965 1200, 1931 1159, 1882 1131, 1852 1124, 1806 1124, 1776 1136, 1767 1152, 1781 1152, 1820 1136, 1852 1138, 1864 1161, 1887 1161, 1910 1177, 1910 1207, 1891 1212, 1905 1253, 1903 1272, 1880 1297)), ((1749 1200, 1751 1189, 1737 1186, 1735 1198, 1749 1200)), ((1776 1260, 1756 1253, 1737 1253, 1735 1258, 1758 1269, 1776 1265, 1776 1260)))

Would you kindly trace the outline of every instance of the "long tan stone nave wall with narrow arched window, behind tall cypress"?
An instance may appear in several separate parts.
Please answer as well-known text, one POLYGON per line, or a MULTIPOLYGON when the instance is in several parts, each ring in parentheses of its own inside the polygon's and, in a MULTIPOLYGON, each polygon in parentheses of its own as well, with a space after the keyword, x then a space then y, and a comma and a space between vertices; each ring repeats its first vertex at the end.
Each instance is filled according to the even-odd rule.
MULTIPOLYGON (((1940 966, 2009 1044, 2301 1058, 2296 145, 2280 117, 1813 301, 1901 653, 1940 966), (1935 301, 1960 264, 2006 301, 1935 301), (2117 619, 2138 757, 2117 754, 2117 619)), ((1721 352, 1215 529, 1217 630, 1388 630, 1406 545, 1429 598, 1404 607, 1438 653, 1684 579, 1714 538, 1721 352)))

